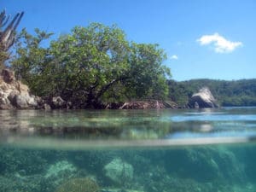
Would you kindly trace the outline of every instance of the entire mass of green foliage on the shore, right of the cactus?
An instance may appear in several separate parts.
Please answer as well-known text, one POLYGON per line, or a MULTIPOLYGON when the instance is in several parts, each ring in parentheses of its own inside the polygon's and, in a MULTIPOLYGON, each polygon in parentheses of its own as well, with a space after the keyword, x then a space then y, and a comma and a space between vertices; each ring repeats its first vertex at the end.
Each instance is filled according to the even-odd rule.
POLYGON ((12 67, 38 96, 61 96, 80 108, 131 98, 165 98, 166 55, 157 44, 136 44, 117 26, 76 26, 41 46, 52 33, 23 30, 12 67))

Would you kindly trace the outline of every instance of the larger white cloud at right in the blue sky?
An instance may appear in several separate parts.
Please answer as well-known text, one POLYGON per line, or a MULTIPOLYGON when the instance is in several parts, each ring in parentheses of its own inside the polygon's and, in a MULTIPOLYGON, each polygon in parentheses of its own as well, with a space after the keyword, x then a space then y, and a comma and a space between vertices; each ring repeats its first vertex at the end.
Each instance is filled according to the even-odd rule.
POLYGON ((241 42, 229 41, 217 32, 213 35, 203 35, 196 41, 201 45, 213 44, 216 53, 230 53, 242 45, 241 42))

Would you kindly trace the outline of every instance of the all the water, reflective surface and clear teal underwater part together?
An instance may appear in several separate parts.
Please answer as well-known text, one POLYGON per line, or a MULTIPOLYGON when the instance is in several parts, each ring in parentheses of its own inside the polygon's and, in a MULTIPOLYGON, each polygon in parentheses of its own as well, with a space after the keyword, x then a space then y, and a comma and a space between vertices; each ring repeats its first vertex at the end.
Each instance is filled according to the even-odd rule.
POLYGON ((256 108, 0 111, 0 192, 255 192, 256 108))

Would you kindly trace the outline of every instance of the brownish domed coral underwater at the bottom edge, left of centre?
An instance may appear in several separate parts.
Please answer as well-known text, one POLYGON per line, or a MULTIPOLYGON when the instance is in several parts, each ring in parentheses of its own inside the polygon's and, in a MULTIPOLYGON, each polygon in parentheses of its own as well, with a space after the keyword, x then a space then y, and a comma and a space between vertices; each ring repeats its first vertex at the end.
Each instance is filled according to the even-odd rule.
POLYGON ((99 185, 89 177, 73 178, 63 183, 55 192, 99 192, 99 185))

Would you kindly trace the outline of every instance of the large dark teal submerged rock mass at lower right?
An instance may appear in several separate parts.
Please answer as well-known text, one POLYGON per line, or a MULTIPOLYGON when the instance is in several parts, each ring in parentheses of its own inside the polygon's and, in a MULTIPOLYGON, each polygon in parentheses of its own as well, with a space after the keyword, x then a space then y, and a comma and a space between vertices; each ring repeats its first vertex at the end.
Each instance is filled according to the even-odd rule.
POLYGON ((246 178, 242 163, 229 148, 183 148, 166 153, 163 159, 167 172, 178 172, 179 177, 199 183, 244 183, 246 178))

